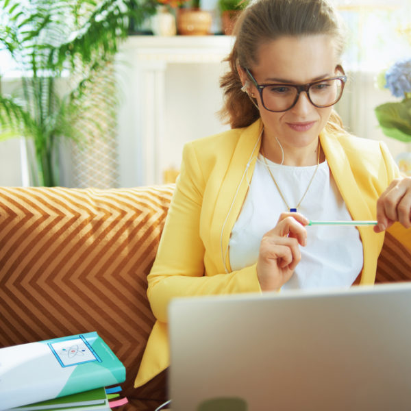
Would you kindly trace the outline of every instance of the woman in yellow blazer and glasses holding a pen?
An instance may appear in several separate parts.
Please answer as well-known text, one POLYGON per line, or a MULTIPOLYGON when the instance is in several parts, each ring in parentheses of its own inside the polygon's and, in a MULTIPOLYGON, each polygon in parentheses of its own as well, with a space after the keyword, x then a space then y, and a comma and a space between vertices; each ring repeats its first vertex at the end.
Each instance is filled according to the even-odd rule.
POLYGON ((158 321, 136 386, 169 365, 172 298, 373 284, 381 233, 411 226, 410 179, 383 143, 347 134, 333 111, 343 38, 325 0, 259 0, 242 13, 222 80, 232 129, 184 147, 148 277, 158 321))

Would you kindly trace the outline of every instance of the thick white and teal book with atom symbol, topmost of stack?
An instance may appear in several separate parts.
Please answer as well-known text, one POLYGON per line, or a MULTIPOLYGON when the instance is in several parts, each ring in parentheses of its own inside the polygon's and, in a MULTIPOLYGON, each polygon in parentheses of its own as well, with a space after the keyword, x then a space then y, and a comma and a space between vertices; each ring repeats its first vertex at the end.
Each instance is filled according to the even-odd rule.
POLYGON ((0 411, 124 381, 97 332, 0 349, 0 411))

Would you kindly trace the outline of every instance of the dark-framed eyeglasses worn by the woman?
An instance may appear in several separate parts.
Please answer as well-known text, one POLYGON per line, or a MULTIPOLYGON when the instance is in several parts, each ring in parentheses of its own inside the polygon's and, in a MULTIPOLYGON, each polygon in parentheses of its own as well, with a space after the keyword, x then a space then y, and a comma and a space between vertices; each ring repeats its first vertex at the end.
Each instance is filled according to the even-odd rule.
POLYGON ((308 84, 258 84, 249 69, 243 68, 260 93, 262 105, 271 112, 285 112, 293 108, 301 92, 318 108, 334 105, 343 95, 347 76, 338 75, 308 84))

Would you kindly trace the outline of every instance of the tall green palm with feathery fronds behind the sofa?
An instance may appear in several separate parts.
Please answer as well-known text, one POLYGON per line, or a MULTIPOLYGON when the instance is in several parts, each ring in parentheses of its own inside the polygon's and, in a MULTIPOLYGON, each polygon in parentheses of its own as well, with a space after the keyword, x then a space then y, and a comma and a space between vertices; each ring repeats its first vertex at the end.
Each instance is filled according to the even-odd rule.
POLYGON ((111 110, 102 115, 115 116, 116 82, 105 73, 129 19, 154 11, 149 0, 0 0, 0 49, 21 76, 12 93, 0 88, 0 139, 33 143, 33 185, 59 184, 59 140, 84 144, 101 128, 92 113, 103 99, 111 110))

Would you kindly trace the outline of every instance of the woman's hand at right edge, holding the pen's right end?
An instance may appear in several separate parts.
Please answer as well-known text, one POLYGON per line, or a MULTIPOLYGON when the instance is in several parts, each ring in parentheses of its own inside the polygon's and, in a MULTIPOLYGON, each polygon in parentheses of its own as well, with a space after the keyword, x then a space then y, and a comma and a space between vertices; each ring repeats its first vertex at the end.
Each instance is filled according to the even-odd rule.
POLYGON ((377 201, 377 221, 374 231, 382 232, 395 221, 411 227, 411 177, 393 179, 377 201))

